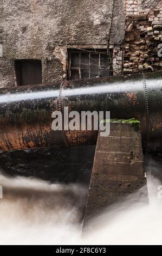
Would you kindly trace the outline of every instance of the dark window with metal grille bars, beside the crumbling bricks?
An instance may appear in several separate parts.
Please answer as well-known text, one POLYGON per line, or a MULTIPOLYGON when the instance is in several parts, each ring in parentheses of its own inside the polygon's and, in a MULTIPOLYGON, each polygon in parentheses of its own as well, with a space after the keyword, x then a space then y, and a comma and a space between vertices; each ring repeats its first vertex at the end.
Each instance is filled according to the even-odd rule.
POLYGON ((107 50, 73 51, 68 53, 69 80, 98 78, 112 75, 107 50))

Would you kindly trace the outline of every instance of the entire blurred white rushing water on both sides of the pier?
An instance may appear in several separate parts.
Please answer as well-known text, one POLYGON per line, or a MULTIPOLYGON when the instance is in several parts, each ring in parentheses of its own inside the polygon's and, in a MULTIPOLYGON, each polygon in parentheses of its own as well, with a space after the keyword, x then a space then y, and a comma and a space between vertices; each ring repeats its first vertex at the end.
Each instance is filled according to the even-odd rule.
POLYGON ((92 220, 92 231, 83 236, 86 188, 3 174, 0 185, 1 245, 162 244, 162 184, 153 176, 148 175, 149 205, 116 204, 92 220))

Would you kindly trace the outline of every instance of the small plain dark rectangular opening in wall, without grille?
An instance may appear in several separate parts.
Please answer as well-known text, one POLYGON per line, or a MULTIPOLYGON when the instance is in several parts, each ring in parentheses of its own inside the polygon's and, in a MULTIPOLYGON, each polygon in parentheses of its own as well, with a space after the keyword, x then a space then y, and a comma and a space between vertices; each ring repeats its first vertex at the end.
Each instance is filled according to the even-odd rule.
POLYGON ((42 83, 41 60, 15 60, 15 71, 18 86, 42 83))

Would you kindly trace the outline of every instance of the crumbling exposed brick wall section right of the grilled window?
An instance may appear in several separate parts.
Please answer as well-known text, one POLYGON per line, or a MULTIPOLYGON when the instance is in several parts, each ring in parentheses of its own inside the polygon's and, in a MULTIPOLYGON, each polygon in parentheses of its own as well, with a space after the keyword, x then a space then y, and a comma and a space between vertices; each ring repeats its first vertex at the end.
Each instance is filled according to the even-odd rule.
POLYGON ((122 72, 131 74, 161 70, 162 58, 158 57, 158 44, 161 41, 162 1, 157 8, 141 12, 138 1, 126 0, 122 72))

